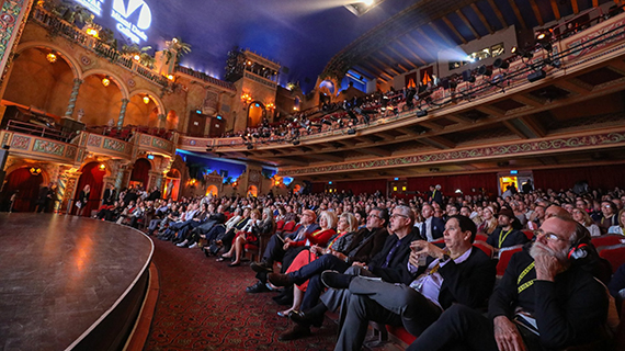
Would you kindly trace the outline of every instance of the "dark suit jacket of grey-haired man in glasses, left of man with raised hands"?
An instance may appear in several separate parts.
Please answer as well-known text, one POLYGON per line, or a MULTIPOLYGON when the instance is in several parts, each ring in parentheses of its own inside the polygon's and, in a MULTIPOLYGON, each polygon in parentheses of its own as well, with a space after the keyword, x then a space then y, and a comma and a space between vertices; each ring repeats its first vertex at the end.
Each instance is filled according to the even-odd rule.
POLYGON ((409 235, 401 239, 401 245, 395 251, 395 254, 390 259, 388 267, 383 268, 384 262, 386 262, 386 257, 388 252, 399 238, 397 235, 391 235, 386 239, 384 248, 379 251, 368 263, 368 269, 375 275, 382 278, 385 282, 389 283, 410 283, 412 281, 412 274, 408 272, 408 258, 410 257, 410 242, 419 240, 418 231, 411 231, 409 235))

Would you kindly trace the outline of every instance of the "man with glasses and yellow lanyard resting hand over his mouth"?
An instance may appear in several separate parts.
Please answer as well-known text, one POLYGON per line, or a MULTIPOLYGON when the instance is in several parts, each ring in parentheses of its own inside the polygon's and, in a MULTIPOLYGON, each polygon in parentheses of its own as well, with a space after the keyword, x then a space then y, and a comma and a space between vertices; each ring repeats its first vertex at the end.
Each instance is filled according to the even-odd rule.
POLYGON ((408 350, 560 350, 601 340, 609 298, 584 268, 595 254, 589 244, 572 219, 545 219, 531 248, 510 260, 488 318, 453 306, 408 350))

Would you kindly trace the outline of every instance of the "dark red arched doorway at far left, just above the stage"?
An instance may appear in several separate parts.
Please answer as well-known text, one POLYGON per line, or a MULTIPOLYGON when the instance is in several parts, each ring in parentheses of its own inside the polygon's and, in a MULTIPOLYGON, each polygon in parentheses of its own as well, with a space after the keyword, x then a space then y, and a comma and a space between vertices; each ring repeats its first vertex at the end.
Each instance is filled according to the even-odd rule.
POLYGON ((32 212, 35 211, 39 186, 44 182, 41 168, 24 167, 12 171, 7 176, 4 190, 0 193, 2 211, 32 212), (31 171, 31 169, 39 170, 31 171), (13 207, 11 208, 11 196, 15 195, 13 207))

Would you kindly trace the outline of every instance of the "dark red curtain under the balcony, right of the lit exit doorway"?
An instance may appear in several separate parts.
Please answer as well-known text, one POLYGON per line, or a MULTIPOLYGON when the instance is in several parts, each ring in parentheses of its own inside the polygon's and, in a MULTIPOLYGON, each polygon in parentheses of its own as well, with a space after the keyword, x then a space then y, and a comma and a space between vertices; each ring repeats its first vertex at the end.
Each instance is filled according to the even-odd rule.
POLYGON ((625 184, 625 165, 542 169, 534 171, 535 189, 570 189, 586 180, 591 189, 603 190, 625 184))

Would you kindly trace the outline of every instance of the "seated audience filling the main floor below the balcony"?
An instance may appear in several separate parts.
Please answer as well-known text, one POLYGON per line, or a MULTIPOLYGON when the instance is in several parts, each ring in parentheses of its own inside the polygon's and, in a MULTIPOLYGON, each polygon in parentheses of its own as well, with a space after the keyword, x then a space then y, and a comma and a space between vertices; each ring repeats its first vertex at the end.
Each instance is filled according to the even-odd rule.
POLYGON ((623 278, 610 283, 610 264, 621 261, 601 259, 593 245, 625 239, 625 191, 618 188, 543 191, 529 183, 521 190, 509 186, 501 196, 463 196, 432 185, 412 199, 379 192, 159 197, 156 189, 129 189, 106 199, 112 207, 104 204, 96 216, 139 227, 181 249, 202 250, 230 268, 241 265, 246 251, 259 253, 246 291, 274 292, 273 299, 285 305, 276 309, 292 320, 283 341, 310 335, 328 310, 340 308, 336 350, 360 349, 370 319, 419 336, 410 350, 442 350, 441 340, 473 342, 462 332, 441 335, 446 322, 473 330, 488 325, 481 319, 488 308, 496 328, 475 331, 485 344, 499 342, 499 325, 512 326, 505 330, 520 344, 600 346, 606 341, 599 330, 609 325, 609 299, 598 281, 618 302, 625 288, 623 278), (514 269, 498 272, 502 276, 493 290, 495 264, 505 252, 518 252, 505 259, 514 269), (513 294, 519 297, 511 298, 519 286, 523 290, 513 294), (566 298, 552 298, 556 291, 566 298), (534 321, 539 339, 514 327, 514 307, 534 321), (428 313, 418 316, 423 308, 428 313), (576 313, 554 315, 553 309, 576 313), (458 324, 469 317, 475 326, 458 324), (545 328, 546 321, 561 327, 545 328))

